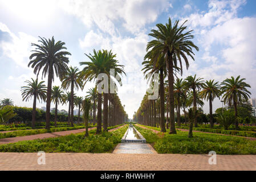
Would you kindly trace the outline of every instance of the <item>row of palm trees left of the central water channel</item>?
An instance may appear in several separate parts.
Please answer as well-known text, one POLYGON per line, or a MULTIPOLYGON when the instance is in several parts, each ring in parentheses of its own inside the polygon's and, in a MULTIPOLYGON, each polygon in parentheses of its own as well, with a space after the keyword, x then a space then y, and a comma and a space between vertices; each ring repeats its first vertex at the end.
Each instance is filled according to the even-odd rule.
MULTIPOLYGON (((40 38, 40 37, 39 37, 40 38)), ((35 108, 36 100, 46 101, 46 129, 50 129, 50 104, 55 104, 55 125, 57 119, 57 111, 59 104, 68 104, 68 122, 71 126, 74 126, 74 106, 80 109, 83 104, 83 97, 76 97, 74 91, 84 89, 87 81, 94 81, 95 88, 90 89, 87 93, 92 104, 91 113, 93 112, 93 122, 97 121, 97 134, 101 133, 101 102, 103 100, 103 130, 107 131, 108 126, 113 126, 124 122, 125 111, 121 105, 120 99, 117 93, 98 93, 97 85, 101 80, 97 80, 100 73, 105 73, 108 76, 109 81, 115 80, 116 77, 110 75, 110 69, 115 70, 115 75, 125 75, 124 66, 119 65, 119 61, 116 60, 116 55, 112 51, 99 50, 93 51, 93 53, 87 55, 89 61, 80 62, 84 68, 79 71, 77 67, 68 67, 68 55, 70 52, 66 51, 64 42, 56 42, 54 37, 52 39, 39 39, 40 44, 32 43, 35 49, 32 50, 30 55, 29 67, 34 68, 34 73, 38 77, 40 71, 42 71, 42 78, 47 75, 47 86, 44 85, 44 81, 38 82, 31 78, 31 81, 26 81, 27 86, 22 86, 23 101, 28 101, 34 98, 33 113, 32 113, 32 127, 35 126, 35 108), (54 76, 59 77, 62 82, 60 86, 53 86, 54 76), (70 92, 64 94, 64 90, 70 89, 70 92), (102 98, 103 95, 103 98, 102 98), (97 102, 97 104, 96 104, 97 102), (96 109, 97 105, 97 109, 96 109), (97 110, 97 119, 96 119, 97 110)), ((121 85, 121 79, 117 80, 121 85)), ((113 81, 115 82, 115 81, 113 81)), ((91 114, 92 115, 92 114, 91 114)), ((79 120, 80 121, 80 120, 79 120)), ((78 122, 79 122, 78 121, 78 122)))

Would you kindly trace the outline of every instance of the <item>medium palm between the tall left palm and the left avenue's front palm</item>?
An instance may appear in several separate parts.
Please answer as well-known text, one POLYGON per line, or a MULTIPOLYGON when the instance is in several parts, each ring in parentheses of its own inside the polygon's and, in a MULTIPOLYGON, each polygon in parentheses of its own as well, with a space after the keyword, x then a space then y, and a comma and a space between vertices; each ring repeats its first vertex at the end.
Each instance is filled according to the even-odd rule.
POLYGON ((67 69, 67 74, 62 78, 62 88, 67 90, 71 88, 71 127, 74 126, 74 89, 82 88, 82 81, 78 79, 79 69, 70 67, 67 69))

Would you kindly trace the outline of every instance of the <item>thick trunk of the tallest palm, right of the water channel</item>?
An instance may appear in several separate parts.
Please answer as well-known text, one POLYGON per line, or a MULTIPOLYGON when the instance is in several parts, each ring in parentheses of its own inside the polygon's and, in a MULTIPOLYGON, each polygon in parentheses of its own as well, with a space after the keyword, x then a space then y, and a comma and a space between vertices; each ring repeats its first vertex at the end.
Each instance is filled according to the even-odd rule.
POLYGON ((174 94, 173 94, 173 58, 172 53, 168 51, 168 59, 166 60, 166 65, 168 65, 168 84, 169 84, 169 109, 170 109, 170 132, 169 134, 176 134, 175 121, 174 121, 174 94))

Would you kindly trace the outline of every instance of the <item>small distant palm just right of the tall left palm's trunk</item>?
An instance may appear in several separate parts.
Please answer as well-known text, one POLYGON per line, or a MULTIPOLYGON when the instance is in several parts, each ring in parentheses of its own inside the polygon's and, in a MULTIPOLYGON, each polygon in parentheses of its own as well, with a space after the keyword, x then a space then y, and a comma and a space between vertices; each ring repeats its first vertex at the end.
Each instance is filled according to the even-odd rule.
POLYGON ((60 89, 59 86, 53 86, 51 90, 51 100, 55 104, 55 116, 54 116, 54 125, 57 126, 57 115, 58 115, 58 104, 63 102, 64 91, 60 89))

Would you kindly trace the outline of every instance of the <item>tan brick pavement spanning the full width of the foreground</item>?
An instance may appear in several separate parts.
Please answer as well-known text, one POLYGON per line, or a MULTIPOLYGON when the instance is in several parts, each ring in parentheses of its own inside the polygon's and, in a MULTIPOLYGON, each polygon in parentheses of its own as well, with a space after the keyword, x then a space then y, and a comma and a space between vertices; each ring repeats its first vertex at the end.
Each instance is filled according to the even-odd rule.
POLYGON ((256 155, 88 154, 46 153, 46 165, 36 153, 0 153, 0 170, 256 170, 256 155))

